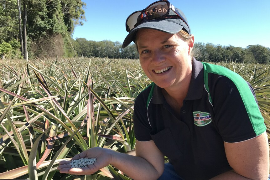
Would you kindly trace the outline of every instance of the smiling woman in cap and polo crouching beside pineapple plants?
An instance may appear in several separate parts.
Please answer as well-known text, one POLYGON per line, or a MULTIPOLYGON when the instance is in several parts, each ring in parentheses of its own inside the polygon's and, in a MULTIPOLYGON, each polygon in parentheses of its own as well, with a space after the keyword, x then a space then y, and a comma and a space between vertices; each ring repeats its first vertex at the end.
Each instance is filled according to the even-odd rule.
POLYGON ((192 57, 194 36, 169 1, 126 21, 143 71, 153 81, 135 100, 136 156, 91 148, 73 159, 94 165, 61 173, 92 174, 111 164, 133 179, 267 179, 266 127, 252 87, 236 73, 192 57), (164 166, 164 156, 170 163, 164 166))

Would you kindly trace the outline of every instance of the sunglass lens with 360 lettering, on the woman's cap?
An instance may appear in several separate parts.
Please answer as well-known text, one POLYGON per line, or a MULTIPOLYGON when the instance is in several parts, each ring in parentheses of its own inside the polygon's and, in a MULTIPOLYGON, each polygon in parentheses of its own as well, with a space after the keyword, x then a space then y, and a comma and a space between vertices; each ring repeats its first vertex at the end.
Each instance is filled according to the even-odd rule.
POLYGON ((168 4, 166 2, 158 2, 146 9, 147 17, 150 19, 159 18, 168 12, 168 4))

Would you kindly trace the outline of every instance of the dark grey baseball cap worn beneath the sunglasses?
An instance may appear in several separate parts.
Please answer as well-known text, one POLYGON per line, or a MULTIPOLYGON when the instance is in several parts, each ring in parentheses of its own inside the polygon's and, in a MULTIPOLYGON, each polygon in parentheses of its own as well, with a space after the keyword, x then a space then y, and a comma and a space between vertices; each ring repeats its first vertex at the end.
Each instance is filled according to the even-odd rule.
POLYGON ((169 34, 176 34, 181 29, 183 29, 187 33, 191 34, 190 27, 188 25, 188 21, 184 13, 178 8, 175 9, 184 18, 184 21, 186 23, 184 23, 184 21, 181 18, 179 18, 179 16, 176 13, 174 13, 172 9, 169 9, 169 14, 162 18, 157 19, 143 18, 141 23, 127 34, 127 37, 125 38, 122 44, 122 48, 127 47, 128 44, 130 44, 132 41, 135 40, 136 33, 140 29, 155 29, 169 34))

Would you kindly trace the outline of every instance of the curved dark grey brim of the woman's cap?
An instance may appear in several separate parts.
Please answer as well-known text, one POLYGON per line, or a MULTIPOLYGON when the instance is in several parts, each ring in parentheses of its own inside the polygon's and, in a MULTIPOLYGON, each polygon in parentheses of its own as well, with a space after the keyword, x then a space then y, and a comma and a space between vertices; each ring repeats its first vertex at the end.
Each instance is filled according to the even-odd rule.
POLYGON ((132 29, 130 33, 127 34, 127 37, 125 38, 122 44, 122 48, 127 47, 127 45, 130 44, 134 40, 136 32, 140 29, 155 29, 155 30, 169 33, 169 34, 176 34, 182 28, 183 26, 181 26, 178 23, 170 21, 170 19, 162 20, 162 21, 159 21, 159 20, 147 21, 145 23, 141 23, 136 28, 132 29))

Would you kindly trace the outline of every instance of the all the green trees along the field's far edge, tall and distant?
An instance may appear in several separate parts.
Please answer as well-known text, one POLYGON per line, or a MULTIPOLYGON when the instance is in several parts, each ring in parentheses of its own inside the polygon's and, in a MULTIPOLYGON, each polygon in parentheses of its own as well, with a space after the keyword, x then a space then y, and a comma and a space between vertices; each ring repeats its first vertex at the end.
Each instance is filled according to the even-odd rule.
MULTIPOLYGON (((80 0, 0 0, 0 57, 100 57, 138 59, 135 44, 72 38, 75 26, 86 21, 80 0)), ((246 48, 195 43, 195 57, 204 62, 270 62, 270 48, 246 48)))

